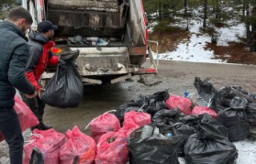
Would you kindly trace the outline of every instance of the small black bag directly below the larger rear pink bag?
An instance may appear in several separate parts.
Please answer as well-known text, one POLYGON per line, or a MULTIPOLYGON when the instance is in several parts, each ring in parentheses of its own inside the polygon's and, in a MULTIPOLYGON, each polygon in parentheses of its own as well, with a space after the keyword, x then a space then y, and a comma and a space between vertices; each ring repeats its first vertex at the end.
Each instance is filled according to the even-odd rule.
POLYGON ((152 118, 152 122, 157 124, 173 125, 179 121, 180 111, 178 108, 174 110, 162 109, 156 112, 152 118))

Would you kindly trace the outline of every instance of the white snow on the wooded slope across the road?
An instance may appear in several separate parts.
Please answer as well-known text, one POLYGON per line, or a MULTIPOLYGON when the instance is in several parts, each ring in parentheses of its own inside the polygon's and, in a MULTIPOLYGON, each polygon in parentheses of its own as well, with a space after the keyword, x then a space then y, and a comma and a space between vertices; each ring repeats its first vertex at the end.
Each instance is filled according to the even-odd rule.
MULTIPOLYGON (((189 31, 191 33, 190 39, 185 39, 177 45, 177 49, 173 52, 166 52, 159 54, 160 60, 174 60, 174 61, 196 61, 196 62, 210 62, 210 63, 226 63, 226 61, 214 59, 214 51, 205 49, 206 44, 211 42, 211 38, 206 33, 201 33, 202 18, 199 18, 202 9, 194 10, 194 18, 188 20, 180 17, 174 17, 178 20, 171 24, 186 29, 189 24, 189 31)), ((227 8, 230 10, 230 8, 227 8)), ((157 22, 152 23, 156 25, 157 22)), ((245 25, 239 23, 238 20, 227 21, 230 27, 215 28, 218 32, 217 45, 228 46, 229 42, 239 42, 242 37, 246 35, 245 25)), ((150 29, 152 32, 154 29, 150 29)), ((171 37, 171 36, 170 36, 171 37)))

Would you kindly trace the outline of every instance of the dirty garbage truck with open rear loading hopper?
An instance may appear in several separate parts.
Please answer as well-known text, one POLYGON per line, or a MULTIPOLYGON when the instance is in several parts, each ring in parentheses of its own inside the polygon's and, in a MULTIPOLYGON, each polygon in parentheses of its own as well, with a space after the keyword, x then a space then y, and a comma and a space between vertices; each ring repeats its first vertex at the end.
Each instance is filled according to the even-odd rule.
MULTIPOLYGON (((147 40, 142 0, 22 0, 22 6, 30 10, 33 29, 42 20, 58 25, 53 53, 79 50, 75 64, 85 84, 158 73, 149 45, 158 43, 147 40), (147 57, 150 64, 143 68, 147 57)), ((53 75, 48 68, 42 82, 53 75)))

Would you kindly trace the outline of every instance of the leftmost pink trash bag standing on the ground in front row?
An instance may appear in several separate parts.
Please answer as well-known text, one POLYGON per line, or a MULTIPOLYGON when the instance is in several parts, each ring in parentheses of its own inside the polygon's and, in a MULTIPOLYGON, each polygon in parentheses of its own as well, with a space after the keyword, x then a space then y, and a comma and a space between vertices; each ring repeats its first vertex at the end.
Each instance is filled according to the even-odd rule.
POLYGON ((23 164, 30 163, 30 157, 35 147, 41 151, 44 164, 58 164, 59 151, 65 139, 65 135, 54 129, 47 131, 34 129, 33 135, 30 137, 30 143, 24 145, 25 158, 23 164))

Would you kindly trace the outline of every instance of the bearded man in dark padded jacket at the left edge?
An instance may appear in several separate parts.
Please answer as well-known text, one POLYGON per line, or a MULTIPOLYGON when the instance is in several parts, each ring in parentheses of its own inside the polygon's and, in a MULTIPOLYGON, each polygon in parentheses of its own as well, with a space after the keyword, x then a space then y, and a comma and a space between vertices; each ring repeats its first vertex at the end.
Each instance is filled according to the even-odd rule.
POLYGON ((25 76, 29 55, 25 33, 32 21, 30 13, 18 7, 10 10, 7 21, 0 23, 0 131, 8 143, 11 164, 22 164, 24 143, 13 108, 15 88, 29 98, 37 95, 25 76))

